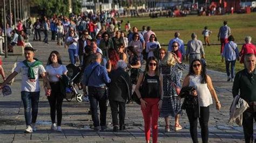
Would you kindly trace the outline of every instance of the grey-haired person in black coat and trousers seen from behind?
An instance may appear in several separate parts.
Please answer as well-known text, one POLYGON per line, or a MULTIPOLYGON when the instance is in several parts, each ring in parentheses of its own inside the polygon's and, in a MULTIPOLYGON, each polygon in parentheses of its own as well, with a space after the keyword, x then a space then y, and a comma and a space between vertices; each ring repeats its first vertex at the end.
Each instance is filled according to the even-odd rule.
POLYGON ((125 130, 125 103, 130 100, 132 87, 131 78, 125 72, 126 63, 123 60, 117 62, 117 69, 110 73, 109 101, 113 122, 113 132, 125 130), (119 124, 117 115, 119 116, 119 124))

